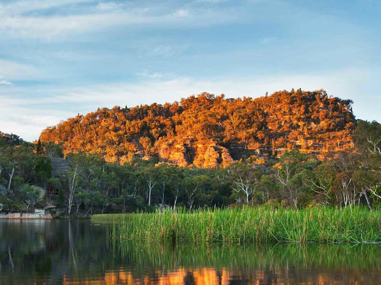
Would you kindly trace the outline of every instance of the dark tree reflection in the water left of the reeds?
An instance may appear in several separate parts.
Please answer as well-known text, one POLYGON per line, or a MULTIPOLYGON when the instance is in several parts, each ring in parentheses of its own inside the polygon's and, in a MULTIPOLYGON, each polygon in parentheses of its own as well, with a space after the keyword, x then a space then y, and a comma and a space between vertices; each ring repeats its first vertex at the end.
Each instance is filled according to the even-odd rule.
POLYGON ((56 283, 64 275, 102 276, 100 262, 113 264, 113 258, 107 251, 105 228, 92 227, 89 221, 0 221, 1 271, 9 278, 4 284, 18 284, 12 279, 16 277, 45 276, 56 283))

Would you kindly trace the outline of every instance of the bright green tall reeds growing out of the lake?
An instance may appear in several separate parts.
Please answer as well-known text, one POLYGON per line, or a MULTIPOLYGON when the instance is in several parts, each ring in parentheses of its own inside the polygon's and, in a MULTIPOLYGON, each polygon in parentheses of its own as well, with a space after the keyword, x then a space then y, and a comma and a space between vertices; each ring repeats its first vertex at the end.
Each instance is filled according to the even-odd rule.
POLYGON ((118 240, 241 243, 381 242, 381 212, 363 208, 299 211, 243 207, 187 212, 95 215, 113 221, 118 240))

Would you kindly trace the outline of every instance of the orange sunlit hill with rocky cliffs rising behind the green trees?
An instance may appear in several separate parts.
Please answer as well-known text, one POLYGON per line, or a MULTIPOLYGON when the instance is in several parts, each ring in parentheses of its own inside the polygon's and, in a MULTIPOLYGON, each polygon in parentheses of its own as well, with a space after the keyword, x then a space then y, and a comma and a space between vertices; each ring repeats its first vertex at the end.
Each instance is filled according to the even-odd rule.
POLYGON ((98 109, 48 127, 40 140, 62 143, 64 154, 97 153, 120 164, 138 157, 225 167, 253 154, 280 157, 292 149, 323 159, 328 151, 353 146, 351 103, 324 90, 255 99, 202 93, 164 105, 98 109))

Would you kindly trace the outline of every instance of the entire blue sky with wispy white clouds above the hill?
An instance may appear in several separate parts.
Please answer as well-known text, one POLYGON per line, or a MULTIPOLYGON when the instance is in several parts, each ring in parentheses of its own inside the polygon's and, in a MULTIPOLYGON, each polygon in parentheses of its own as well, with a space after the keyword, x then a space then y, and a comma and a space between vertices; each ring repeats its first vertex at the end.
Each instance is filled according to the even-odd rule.
POLYGON ((0 0, 0 131, 98 108, 325 89, 381 122, 378 0, 0 0))

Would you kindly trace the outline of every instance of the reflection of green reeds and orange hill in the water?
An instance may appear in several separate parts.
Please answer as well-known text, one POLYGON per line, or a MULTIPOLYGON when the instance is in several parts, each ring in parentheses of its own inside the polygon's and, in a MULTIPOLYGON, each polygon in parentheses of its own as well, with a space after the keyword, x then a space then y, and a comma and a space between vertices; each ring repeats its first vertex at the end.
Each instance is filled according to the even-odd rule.
MULTIPOLYGON (((119 250, 124 275, 139 284, 355 284, 355 280, 378 284, 369 274, 381 276, 381 249, 377 245, 170 246, 125 242, 119 250)), ((122 283, 124 279, 118 274, 116 278, 122 283)))

